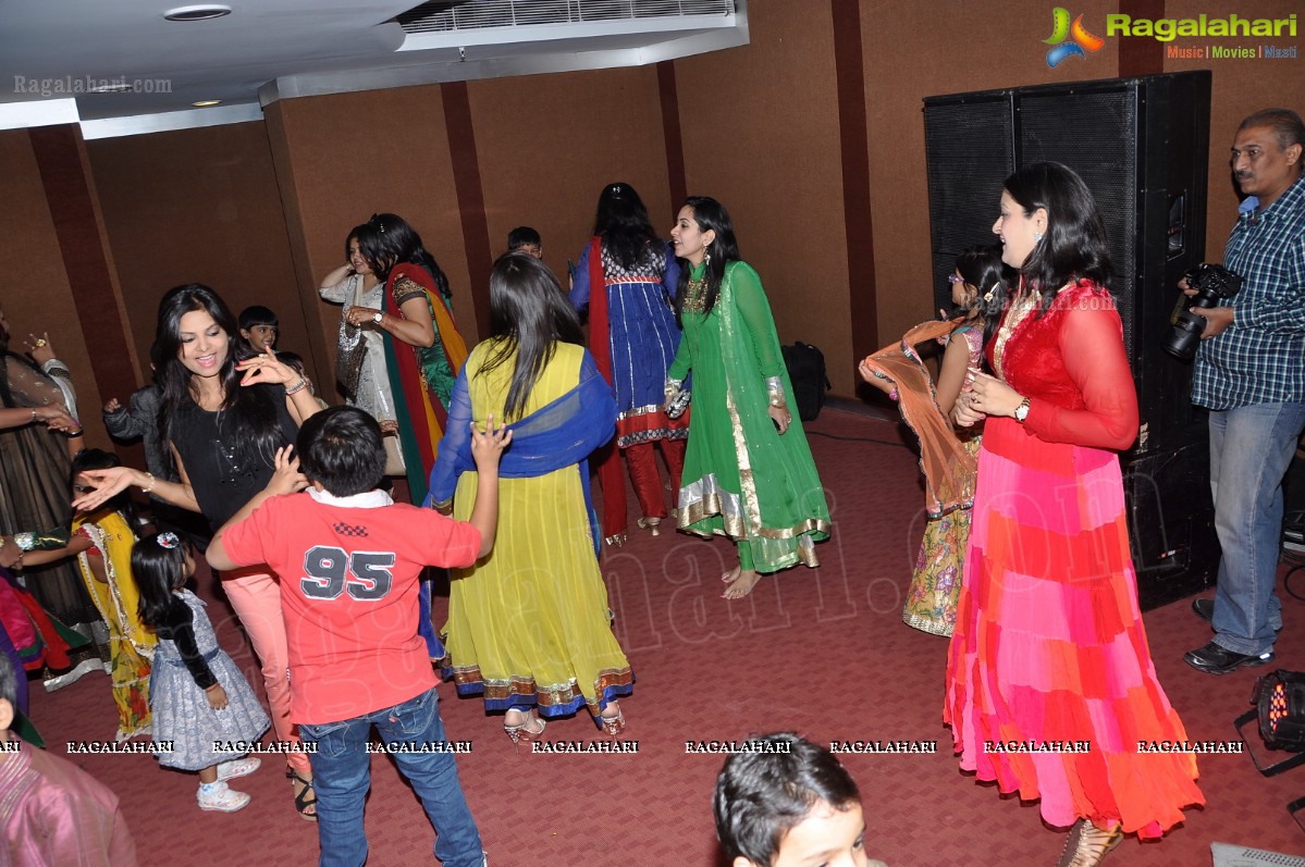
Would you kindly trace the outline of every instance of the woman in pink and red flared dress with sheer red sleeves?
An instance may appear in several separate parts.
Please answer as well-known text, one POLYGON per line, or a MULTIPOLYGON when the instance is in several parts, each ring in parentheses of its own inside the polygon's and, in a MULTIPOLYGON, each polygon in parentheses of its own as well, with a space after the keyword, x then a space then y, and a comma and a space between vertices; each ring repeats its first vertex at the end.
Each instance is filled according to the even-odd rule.
POLYGON ((1090 867, 1205 798, 1191 755, 1139 750, 1186 733, 1129 554, 1116 452, 1138 408, 1104 224, 1078 175, 1037 163, 1006 179, 993 232, 1021 286, 987 349, 996 377, 953 411, 987 421, 944 720, 960 767, 1040 798, 1048 824, 1071 827, 1060 866, 1090 867))

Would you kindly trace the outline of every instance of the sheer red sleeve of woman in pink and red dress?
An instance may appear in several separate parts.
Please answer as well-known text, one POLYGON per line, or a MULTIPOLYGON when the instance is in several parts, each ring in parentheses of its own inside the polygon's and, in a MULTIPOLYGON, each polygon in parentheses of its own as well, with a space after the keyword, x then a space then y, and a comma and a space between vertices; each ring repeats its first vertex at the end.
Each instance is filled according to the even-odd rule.
POLYGON ((1084 407, 1032 400, 1024 426, 1047 442, 1122 451, 1138 433, 1138 398, 1124 352, 1124 326, 1105 295, 1087 296, 1065 313, 1060 351, 1084 407))

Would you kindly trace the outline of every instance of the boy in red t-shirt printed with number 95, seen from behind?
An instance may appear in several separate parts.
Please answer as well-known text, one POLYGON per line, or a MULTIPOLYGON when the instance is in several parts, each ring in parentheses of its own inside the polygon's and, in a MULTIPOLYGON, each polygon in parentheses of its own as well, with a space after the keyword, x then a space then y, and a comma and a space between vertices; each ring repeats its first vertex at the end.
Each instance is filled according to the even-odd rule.
POLYGON ((499 459, 512 433, 492 425, 489 419, 485 433, 471 429, 479 485, 471 520, 462 523, 393 503, 376 489, 385 469, 376 420, 355 407, 324 409, 300 428, 298 458, 288 448, 277 454, 266 490, 218 531, 205 554, 217 570, 266 563, 281 576, 291 718, 304 742, 316 744, 324 867, 367 859, 373 725, 435 824, 444 867, 484 863, 418 634, 418 579, 425 566, 471 566, 493 546, 499 459))

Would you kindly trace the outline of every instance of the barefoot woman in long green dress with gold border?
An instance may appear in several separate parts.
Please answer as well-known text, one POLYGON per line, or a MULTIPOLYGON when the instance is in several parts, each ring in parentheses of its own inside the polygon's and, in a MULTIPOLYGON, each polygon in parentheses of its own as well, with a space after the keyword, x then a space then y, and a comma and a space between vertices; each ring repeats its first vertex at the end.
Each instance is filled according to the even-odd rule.
POLYGON ((739 566, 722 576, 726 598, 746 596, 762 574, 817 566, 829 506, 801 422, 761 279, 739 258, 729 214, 690 197, 671 229, 681 270, 676 316, 684 329, 667 373, 668 405, 693 370, 689 446, 679 529, 728 536, 739 566))

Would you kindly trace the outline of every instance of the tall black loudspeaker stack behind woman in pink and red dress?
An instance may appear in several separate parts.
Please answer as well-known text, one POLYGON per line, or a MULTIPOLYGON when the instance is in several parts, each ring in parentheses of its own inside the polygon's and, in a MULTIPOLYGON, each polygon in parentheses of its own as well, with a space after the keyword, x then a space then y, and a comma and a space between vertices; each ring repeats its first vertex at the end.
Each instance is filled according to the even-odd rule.
POLYGON ((950 305, 957 254, 996 242, 1015 168, 1064 163, 1092 192, 1138 391, 1138 438, 1122 464, 1139 595, 1151 608, 1208 585, 1219 545, 1206 422, 1191 407, 1191 365, 1160 342, 1178 279, 1205 257, 1210 72, 929 96, 924 132, 934 308, 950 305))

